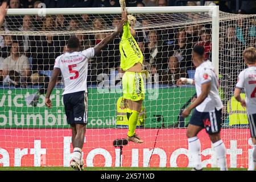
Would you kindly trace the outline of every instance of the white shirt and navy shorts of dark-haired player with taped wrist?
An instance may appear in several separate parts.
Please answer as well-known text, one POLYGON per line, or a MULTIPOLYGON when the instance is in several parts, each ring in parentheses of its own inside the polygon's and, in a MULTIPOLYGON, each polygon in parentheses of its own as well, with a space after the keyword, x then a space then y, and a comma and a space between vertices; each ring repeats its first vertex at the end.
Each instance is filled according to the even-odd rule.
POLYGON ((208 134, 219 133, 221 130, 222 101, 218 95, 218 77, 212 63, 204 61, 196 68, 196 94, 201 94, 201 85, 210 82, 210 92, 205 100, 196 107, 189 124, 205 128, 208 134))

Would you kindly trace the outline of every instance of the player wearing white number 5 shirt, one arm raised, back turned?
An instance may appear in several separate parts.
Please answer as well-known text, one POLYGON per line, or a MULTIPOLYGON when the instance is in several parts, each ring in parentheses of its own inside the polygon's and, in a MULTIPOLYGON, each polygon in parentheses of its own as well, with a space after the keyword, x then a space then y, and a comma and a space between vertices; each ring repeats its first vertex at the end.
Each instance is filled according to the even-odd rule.
POLYGON ((93 48, 79 51, 80 42, 76 36, 68 40, 68 50, 55 60, 51 81, 49 82, 46 93, 46 106, 51 108, 52 102, 49 99, 54 88, 57 77, 60 75, 64 80, 63 103, 67 122, 72 129, 72 160, 70 166, 81 170, 84 165, 82 160, 82 146, 84 144, 85 130, 87 123, 87 73, 89 60, 97 55, 101 49, 119 35, 123 30, 123 21, 113 34, 101 40, 93 48))

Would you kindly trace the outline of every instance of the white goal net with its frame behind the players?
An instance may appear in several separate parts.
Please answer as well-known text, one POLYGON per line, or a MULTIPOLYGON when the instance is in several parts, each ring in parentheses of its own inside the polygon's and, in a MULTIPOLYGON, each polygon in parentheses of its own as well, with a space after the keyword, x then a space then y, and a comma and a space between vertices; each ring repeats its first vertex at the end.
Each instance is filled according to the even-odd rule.
MULTIPOLYGON (((61 76, 51 96, 52 109, 44 106, 55 58, 67 51, 71 36, 79 38, 81 50, 98 44, 115 30, 120 13, 119 8, 8 10, 0 33, 0 166, 69 166, 73 149, 61 76)), ((124 146, 122 160, 120 148, 113 146, 127 134, 119 36, 89 63, 85 166, 191 166, 185 135, 190 117, 184 119, 181 112, 196 92, 193 86, 176 86, 176 81, 194 77, 191 53, 200 44, 220 77, 228 165, 247 167, 250 131, 245 110, 232 96, 238 73, 246 68, 242 52, 255 47, 256 16, 201 6, 128 8, 128 14, 137 19, 135 40, 143 52, 143 69, 150 72, 144 76, 146 94, 136 131, 144 143, 124 146)), ((217 167, 205 131, 199 138, 203 166, 217 167)))

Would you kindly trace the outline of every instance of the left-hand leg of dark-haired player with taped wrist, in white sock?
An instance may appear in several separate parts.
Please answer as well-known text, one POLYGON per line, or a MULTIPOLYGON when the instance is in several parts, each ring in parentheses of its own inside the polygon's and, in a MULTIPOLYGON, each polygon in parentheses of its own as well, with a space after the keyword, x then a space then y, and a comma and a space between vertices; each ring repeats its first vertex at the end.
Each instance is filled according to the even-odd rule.
MULTIPOLYGON (((196 115, 194 115, 193 118, 195 118, 195 116, 196 115)), ((203 129, 203 127, 198 126, 198 124, 193 121, 193 118, 191 120, 192 122, 189 121, 188 129, 187 129, 188 152, 192 157, 193 168, 194 170, 197 171, 197 170, 203 169, 201 164, 201 143, 199 138, 197 138, 197 134, 203 129)), ((198 119, 198 121, 200 121, 200 119, 198 119)))

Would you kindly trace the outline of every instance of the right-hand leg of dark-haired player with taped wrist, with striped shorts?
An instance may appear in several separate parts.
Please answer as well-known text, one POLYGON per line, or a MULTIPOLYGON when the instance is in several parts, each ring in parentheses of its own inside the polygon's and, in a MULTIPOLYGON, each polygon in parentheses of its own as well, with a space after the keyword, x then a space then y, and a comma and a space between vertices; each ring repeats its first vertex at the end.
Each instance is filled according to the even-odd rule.
POLYGON ((215 109, 215 111, 205 114, 205 118, 209 119, 208 126, 206 126, 206 131, 209 134, 210 140, 212 141, 214 147, 214 151, 216 152, 218 167, 220 167, 221 171, 227 171, 228 166, 226 163, 226 147, 220 138, 221 113, 221 109, 215 109))

